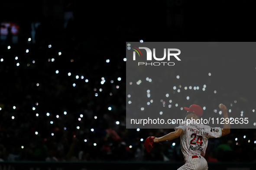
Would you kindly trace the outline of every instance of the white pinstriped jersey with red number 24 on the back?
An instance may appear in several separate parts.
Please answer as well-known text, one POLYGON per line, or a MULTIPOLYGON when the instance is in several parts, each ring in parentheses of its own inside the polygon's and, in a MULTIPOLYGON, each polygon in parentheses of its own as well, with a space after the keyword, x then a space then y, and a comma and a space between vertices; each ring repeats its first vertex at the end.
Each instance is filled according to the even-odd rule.
POLYGON ((193 155, 205 155, 205 151, 208 145, 209 138, 220 138, 221 129, 219 127, 211 128, 204 124, 188 124, 185 121, 184 124, 180 124, 175 127, 183 129, 183 133, 180 135, 181 151, 184 157, 193 155))

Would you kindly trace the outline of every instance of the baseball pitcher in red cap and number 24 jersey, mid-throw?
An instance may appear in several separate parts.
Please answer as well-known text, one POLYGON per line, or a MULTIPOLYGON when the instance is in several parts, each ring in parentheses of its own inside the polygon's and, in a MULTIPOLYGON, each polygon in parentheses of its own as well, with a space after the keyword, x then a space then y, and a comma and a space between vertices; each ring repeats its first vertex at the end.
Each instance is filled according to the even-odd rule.
MULTIPOLYGON (((227 107, 224 104, 219 105, 220 110, 223 113, 224 118, 229 118, 227 114, 227 107)), ((192 104, 189 108, 184 107, 187 110, 186 119, 197 120, 203 114, 203 109, 192 104)), ((191 121, 188 123, 185 121, 178 127, 175 127, 175 132, 171 132, 160 138, 150 136, 145 140, 144 147, 150 152, 154 143, 161 141, 170 141, 172 139, 180 137, 181 151, 185 159, 185 164, 178 170, 207 170, 207 161, 204 159, 205 151, 209 138, 220 138, 221 136, 230 133, 230 124, 225 122, 223 129, 219 127, 211 128, 202 123, 196 123, 191 121)))

